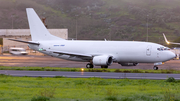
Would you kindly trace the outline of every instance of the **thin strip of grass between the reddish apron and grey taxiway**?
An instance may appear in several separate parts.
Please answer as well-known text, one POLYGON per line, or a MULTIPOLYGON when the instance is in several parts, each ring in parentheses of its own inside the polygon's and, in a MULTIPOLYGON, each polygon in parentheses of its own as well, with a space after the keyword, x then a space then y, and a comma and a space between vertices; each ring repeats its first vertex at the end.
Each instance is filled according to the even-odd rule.
MULTIPOLYGON (((61 68, 61 67, 8 67, 0 66, 0 70, 27 70, 27 71, 72 71, 81 72, 82 68, 61 68)), ((83 68, 83 72, 116 72, 116 73, 174 73, 180 74, 179 70, 142 70, 142 69, 101 69, 83 68)))

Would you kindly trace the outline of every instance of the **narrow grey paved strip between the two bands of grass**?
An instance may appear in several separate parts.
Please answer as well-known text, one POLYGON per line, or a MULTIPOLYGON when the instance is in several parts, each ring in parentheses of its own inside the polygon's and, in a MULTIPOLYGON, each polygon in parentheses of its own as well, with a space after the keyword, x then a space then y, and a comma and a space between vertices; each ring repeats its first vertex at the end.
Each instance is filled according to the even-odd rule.
POLYGON ((168 77, 174 77, 180 80, 180 74, 151 74, 151 73, 104 73, 104 72, 61 72, 61 71, 12 71, 0 70, 0 74, 11 76, 29 76, 29 77, 55 77, 63 76, 69 78, 105 78, 105 79, 154 79, 165 80, 168 77))

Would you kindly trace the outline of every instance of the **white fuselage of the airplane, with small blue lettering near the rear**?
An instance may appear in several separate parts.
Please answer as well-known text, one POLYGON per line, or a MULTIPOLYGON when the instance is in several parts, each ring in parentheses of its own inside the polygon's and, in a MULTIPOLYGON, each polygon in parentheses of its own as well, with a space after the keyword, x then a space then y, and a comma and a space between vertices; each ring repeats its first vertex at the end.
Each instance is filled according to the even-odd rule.
POLYGON ((29 45, 30 48, 54 57, 72 60, 86 61, 77 56, 59 55, 56 51, 66 51, 69 53, 88 54, 92 56, 110 55, 114 62, 130 63, 156 63, 165 62, 175 57, 169 50, 160 51, 158 48, 164 47, 150 42, 136 41, 40 41, 39 46, 29 45), (40 51, 44 49, 45 51, 40 51))

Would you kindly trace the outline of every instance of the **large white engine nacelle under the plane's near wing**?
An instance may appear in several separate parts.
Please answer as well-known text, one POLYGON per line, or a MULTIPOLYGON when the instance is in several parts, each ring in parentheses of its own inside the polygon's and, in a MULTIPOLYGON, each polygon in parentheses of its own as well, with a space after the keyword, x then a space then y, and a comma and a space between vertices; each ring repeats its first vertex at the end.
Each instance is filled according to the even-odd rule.
POLYGON ((112 56, 103 55, 103 56, 95 56, 92 61, 93 64, 96 66, 109 66, 112 64, 113 59, 112 56))

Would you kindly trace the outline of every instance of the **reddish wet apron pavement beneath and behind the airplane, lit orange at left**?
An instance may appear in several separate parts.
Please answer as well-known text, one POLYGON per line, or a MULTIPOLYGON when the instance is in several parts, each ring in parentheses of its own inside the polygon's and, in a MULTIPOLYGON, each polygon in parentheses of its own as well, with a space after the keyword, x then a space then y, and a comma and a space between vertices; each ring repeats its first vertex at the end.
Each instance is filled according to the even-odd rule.
MULTIPOLYGON (((1 55, 1 66, 31 66, 31 67, 71 67, 71 68, 86 68, 87 62, 75 62, 63 59, 58 59, 50 56, 12 56, 1 55)), ((165 64, 158 66, 159 69, 174 69, 180 70, 180 60, 171 60, 165 64)), ((95 66, 94 68, 100 68, 95 66)), ((140 63, 137 66, 121 66, 118 63, 113 63, 109 68, 118 69, 153 69, 153 63, 140 63)))

